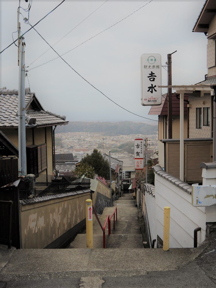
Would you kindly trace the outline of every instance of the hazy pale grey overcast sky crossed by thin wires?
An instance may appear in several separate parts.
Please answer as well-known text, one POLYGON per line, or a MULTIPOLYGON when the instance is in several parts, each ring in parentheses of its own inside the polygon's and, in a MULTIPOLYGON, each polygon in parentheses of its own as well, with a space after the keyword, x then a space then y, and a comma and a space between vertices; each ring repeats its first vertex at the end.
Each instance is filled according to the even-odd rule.
MULTIPOLYGON (((33 0, 29 23, 36 24, 60 2, 33 0)), ((148 115, 151 106, 141 105, 140 57, 160 54, 165 66, 167 54, 177 50, 172 55, 172 84, 191 85, 204 80, 207 38, 204 33, 192 32, 203 4, 204 0, 66 0, 35 29, 51 46, 68 33, 53 48, 61 55, 76 47, 62 58, 79 75, 61 58, 44 64, 58 55, 48 50, 48 44, 31 29, 24 35, 26 87, 35 92, 45 110, 65 115, 69 121, 157 120, 157 116, 148 115), (139 116, 113 103, 80 75, 139 116)), ((0 0, 0 51, 13 42, 12 35, 17 39, 18 6, 19 0, 0 0)), ((26 9, 29 2, 20 0, 20 6, 26 9)), ((22 8, 19 21, 24 33, 31 26, 24 22, 28 13, 22 8)), ((18 89, 17 51, 13 44, 0 54, 0 88, 18 89)), ((162 85, 167 85, 165 69, 162 85)))

